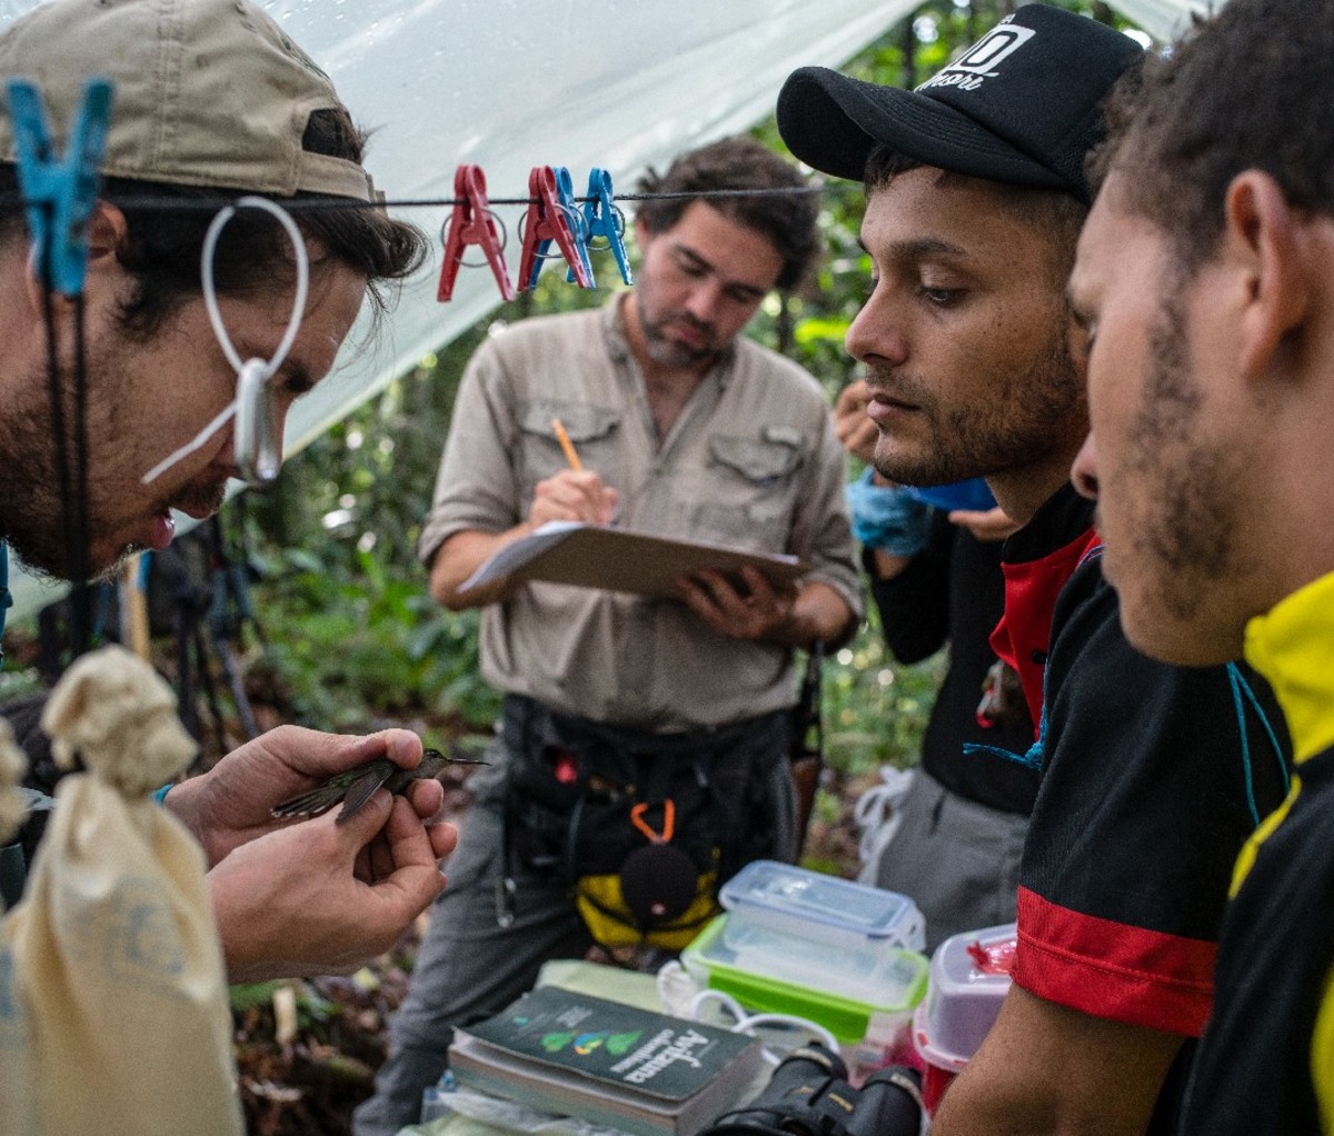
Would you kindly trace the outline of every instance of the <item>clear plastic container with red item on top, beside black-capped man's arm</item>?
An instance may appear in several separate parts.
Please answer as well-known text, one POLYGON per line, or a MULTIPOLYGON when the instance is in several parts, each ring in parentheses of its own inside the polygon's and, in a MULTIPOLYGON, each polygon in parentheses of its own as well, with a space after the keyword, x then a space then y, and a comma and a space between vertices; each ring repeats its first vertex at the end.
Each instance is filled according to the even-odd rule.
POLYGON ((1015 924, 1005 923, 936 947, 922 1023, 938 1055, 967 1060, 976 1052, 1010 989, 1015 939, 1015 924))

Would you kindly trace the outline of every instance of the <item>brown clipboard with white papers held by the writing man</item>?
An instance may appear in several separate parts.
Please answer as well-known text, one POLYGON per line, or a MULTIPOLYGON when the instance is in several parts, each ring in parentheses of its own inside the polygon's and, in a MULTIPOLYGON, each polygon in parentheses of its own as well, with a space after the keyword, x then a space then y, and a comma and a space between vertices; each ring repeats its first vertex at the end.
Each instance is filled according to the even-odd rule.
POLYGON ((740 584, 740 569, 747 564, 772 584, 795 580, 810 567, 783 553, 748 552, 579 521, 547 521, 528 536, 498 548, 459 591, 544 580, 668 599, 676 595, 678 579, 704 568, 740 584))

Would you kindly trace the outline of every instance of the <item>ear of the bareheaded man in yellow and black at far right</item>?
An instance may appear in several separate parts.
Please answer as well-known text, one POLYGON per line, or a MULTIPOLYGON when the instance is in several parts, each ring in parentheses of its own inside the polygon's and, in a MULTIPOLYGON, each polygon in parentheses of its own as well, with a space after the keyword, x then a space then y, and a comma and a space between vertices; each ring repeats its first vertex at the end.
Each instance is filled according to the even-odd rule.
POLYGON ((1223 200, 1227 256, 1245 272, 1242 373, 1262 375, 1309 315, 1310 265, 1303 255, 1305 219, 1270 175, 1238 173, 1223 200))

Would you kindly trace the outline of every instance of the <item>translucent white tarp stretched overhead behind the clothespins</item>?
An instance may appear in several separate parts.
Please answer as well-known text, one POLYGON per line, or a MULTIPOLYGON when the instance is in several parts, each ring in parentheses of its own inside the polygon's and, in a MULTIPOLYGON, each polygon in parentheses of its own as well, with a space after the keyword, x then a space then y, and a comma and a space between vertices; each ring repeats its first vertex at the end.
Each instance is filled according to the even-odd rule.
MULTIPOLYGON (((0 0, 0 24, 32 7, 32 0, 0 0)), ((491 197, 526 196, 534 165, 568 167, 576 195, 592 165, 610 171, 618 191, 630 191, 644 168, 662 168, 682 149, 759 121, 788 72, 838 67, 918 0, 268 0, 263 7, 375 129, 367 165, 388 197, 443 200, 452 197, 454 172, 466 161, 483 167, 491 197)), ((1114 0, 1113 7, 1165 36, 1202 5, 1114 0)), ((500 212, 514 276, 522 209, 500 212)), ((403 216, 438 233, 448 209, 403 216)), ((439 240, 435 247, 379 340, 367 348, 354 336, 362 349, 344 352, 335 373, 296 404, 288 453, 499 303, 486 268, 463 268, 452 301, 438 304, 439 240)), ((610 257, 595 268, 599 283, 615 272, 610 257)), ((49 599, 16 576, 15 615, 49 599)))

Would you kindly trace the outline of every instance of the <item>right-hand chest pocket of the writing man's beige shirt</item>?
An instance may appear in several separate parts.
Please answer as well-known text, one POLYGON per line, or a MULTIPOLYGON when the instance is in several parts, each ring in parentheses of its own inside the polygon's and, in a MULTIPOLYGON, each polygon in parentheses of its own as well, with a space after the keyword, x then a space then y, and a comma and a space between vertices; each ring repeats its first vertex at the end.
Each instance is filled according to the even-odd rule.
POLYGON ((694 508, 700 540, 782 552, 791 529, 804 436, 767 427, 758 437, 708 439, 708 477, 694 508))

